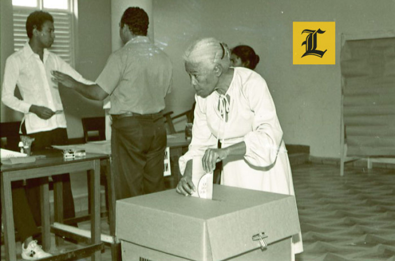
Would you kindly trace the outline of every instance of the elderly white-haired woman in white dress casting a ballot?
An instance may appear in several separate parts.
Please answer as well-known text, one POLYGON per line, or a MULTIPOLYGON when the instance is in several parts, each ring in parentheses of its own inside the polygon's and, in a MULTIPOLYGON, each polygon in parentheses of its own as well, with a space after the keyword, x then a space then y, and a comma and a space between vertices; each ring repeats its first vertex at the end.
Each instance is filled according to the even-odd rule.
MULTIPOLYGON (((176 191, 195 191, 192 159, 199 156, 205 172, 222 160, 221 185, 294 195, 283 133, 266 81, 252 70, 230 67, 229 48, 215 38, 194 42, 184 60, 196 91, 196 108, 192 141, 179 159, 183 177, 176 191)), ((295 235, 293 252, 302 251, 301 236, 295 235)))

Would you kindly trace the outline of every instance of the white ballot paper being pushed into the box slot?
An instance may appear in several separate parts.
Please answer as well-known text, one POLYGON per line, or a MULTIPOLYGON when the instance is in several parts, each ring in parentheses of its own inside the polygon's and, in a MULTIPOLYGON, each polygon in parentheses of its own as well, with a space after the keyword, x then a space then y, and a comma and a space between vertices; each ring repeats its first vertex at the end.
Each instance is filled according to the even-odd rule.
POLYGON ((213 197, 213 172, 206 173, 203 170, 201 157, 194 157, 192 161, 192 182, 196 191, 193 197, 212 199, 213 197))

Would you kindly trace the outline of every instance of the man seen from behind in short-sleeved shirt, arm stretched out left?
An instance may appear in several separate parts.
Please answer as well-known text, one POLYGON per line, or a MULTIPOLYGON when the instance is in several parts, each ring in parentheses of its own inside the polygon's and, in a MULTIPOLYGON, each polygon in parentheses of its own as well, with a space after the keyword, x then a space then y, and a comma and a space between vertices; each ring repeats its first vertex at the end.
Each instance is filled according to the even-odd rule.
POLYGON ((116 198, 128 198, 164 188, 166 128, 163 109, 170 91, 172 64, 147 37, 148 15, 127 8, 119 23, 124 46, 108 58, 96 84, 78 82, 53 72, 55 80, 86 98, 111 102, 111 157, 116 198))

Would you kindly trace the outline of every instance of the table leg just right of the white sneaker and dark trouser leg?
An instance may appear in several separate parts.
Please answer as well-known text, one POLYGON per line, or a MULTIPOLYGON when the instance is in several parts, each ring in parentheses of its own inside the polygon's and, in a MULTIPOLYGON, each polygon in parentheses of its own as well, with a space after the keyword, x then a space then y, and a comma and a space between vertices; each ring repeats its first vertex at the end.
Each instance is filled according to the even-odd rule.
POLYGON ((48 252, 51 249, 48 179, 40 185, 40 200, 42 248, 48 252))

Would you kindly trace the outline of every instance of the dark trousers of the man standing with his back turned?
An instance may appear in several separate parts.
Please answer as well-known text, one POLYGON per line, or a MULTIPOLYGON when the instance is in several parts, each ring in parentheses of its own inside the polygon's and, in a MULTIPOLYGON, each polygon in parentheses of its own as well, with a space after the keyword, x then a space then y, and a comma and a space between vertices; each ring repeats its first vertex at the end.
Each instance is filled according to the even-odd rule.
POLYGON ((166 128, 162 113, 113 116, 111 159, 116 198, 164 189, 166 128))

